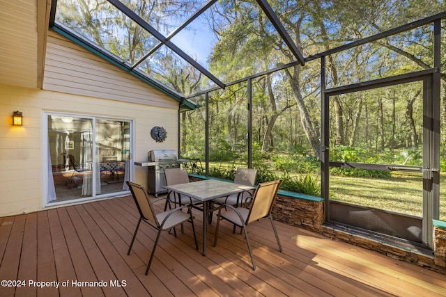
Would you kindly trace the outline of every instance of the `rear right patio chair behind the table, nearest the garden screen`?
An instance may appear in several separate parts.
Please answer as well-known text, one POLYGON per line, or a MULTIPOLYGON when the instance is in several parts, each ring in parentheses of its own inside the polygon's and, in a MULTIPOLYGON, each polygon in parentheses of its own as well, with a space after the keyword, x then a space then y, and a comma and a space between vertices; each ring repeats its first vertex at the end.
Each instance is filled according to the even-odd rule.
MULTIPOLYGON (((237 168, 234 184, 243 184, 245 186, 254 186, 256 184, 257 169, 237 168)), ((248 197, 252 197, 252 192, 245 191, 238 194, 229 195, 227 197, 216 198, 214 202, 219 204, 229 204, 235 207, 243 205, 248 197)))

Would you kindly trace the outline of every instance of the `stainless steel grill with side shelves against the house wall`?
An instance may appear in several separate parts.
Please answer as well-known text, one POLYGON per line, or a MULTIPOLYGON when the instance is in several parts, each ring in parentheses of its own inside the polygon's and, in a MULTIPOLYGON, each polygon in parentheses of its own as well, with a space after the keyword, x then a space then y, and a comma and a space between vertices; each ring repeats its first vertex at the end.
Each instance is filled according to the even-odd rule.
POLYGON ((157 197, 160 193, 167 193, 163 188, 166 185, 164 168, 178 168, 185 162, 187 160, 178 159, 175 150, 151 150, 147 162, 135 162, 135 165, 147 166, 148 193, 157 197))

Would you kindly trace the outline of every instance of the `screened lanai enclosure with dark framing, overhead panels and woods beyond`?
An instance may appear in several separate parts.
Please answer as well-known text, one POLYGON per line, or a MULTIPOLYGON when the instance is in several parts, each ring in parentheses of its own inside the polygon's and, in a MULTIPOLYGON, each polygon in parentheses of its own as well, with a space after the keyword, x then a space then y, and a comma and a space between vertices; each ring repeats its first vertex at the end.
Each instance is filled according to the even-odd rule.
POLYGON ((257 168, 321 195, 326 222, 432 248, 445 17, 443 0, 58 0, 50 27, 178 100, 194 173, 257 168))

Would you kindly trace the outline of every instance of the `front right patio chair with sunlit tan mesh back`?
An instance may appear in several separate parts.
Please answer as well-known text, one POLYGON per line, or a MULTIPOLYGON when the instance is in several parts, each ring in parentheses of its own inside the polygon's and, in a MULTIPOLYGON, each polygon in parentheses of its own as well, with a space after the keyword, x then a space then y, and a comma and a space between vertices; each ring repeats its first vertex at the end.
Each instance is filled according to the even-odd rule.
POLYGON ((246 207, 233 207, 233 205, 222 204, 218 209, 214 246, 217 246, 220 220, 224 219, 233 223, 233 233, 235 233, 236 226, 242 227, 245 231, 245 238, 249 250, 249 255, 251 256, 252 270, 256 270, 256 262, 254 262, 254 255, 252 253, 251 243, 249 243, 247 227, 248 225, 252 225, 252 223, 257 222, 261 218, 269 218, 272 225, 272 230, 274 231, 277 239, 277 244, 279 245, 279 251, 282 252, 282 245, 280 244, 279 236, 277 235, 277 230, 271 216, 272 205, 276 200, 277 190, 279 190, 279 186, 281 183, 282 179, 278 179, 273 182, 263 182, 259 184, 256 188, 256 191, 254 192, 252 203, 249 209, 246 207))

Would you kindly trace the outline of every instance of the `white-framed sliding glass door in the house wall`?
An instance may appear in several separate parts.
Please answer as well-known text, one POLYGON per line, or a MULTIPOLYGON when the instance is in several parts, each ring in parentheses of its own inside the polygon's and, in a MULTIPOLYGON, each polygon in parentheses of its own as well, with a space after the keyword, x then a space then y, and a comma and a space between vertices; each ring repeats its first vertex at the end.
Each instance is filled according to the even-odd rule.
POLYGON ((61 113, 47 113, 45 118, 45 204, 128 191, 131 120, 61 113))

